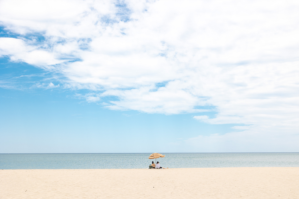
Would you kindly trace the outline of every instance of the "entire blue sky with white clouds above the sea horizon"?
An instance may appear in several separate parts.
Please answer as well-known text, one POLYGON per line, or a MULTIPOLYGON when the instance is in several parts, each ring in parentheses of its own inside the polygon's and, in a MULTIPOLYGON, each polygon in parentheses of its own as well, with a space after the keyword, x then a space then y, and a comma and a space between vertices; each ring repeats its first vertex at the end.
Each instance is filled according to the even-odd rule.
POLYGON ((0 1, 0 153, 299 152, 298 1, 0 1))

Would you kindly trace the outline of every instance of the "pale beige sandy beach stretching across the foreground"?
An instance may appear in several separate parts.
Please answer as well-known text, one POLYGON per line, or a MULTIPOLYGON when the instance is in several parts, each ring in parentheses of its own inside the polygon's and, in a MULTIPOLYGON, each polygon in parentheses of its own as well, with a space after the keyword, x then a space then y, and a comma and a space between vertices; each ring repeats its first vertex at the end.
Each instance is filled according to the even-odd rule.
POLYGON ((299 167, 0 170, 0 198, 299 198, 299 167))

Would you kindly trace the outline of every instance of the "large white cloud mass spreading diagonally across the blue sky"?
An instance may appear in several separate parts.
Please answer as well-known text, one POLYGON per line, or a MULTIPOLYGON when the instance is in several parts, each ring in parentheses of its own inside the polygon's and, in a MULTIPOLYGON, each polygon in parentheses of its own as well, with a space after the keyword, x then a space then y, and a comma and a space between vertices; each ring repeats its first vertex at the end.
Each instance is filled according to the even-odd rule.
POLYGON ((298 9, 297 1, 1 1, 0 55, 60 74, 59 89, 87 89, 81 97, 112 110, 194 113, 298 139, 298 9), (209 111, 217 113, 201 114, 209 111))

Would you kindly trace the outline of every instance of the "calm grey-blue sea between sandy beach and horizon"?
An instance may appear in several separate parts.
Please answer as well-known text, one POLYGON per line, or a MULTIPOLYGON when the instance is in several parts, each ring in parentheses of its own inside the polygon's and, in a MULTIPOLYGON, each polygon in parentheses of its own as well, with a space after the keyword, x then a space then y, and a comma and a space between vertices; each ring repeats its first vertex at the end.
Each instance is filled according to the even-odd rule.
MULTIPOLYGON (((162 167, 299 167, 299 153, 162 153, 162 167)), ((148 168, 150 153, 0 154, 0 169, 148 168)), ((155 161, 155 159, 154 159, 155 161)))

